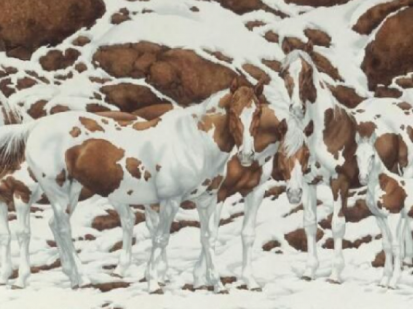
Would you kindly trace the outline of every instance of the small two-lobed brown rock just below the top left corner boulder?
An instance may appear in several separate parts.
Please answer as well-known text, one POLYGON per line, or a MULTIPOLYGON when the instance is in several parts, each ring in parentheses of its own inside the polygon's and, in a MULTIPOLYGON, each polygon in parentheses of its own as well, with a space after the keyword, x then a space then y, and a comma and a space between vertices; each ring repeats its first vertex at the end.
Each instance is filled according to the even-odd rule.
POLYGON ((63 53, 62 51, 52 50, 46 55, 40 57, 40 65, 47 71, 55 71, 58 69, 66 69, 73 65, 77 58, 80 56, 80 52, 69 48, 63 53))

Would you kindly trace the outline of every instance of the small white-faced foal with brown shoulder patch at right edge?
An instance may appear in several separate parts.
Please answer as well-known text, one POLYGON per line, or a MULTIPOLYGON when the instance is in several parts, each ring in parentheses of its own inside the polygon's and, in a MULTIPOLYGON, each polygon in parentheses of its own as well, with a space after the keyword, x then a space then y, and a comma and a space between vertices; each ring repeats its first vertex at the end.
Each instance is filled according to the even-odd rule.
POLYGON ((386 260, 379 285, 396 289, 401 275, 405 226, 408 218, 413 217, 413 179, 402 178, 386 168, 377 152, 375 134, 370 137, 357 134, 356 141, 360 178, 367 185, 367 206, 383 235, 386 260))

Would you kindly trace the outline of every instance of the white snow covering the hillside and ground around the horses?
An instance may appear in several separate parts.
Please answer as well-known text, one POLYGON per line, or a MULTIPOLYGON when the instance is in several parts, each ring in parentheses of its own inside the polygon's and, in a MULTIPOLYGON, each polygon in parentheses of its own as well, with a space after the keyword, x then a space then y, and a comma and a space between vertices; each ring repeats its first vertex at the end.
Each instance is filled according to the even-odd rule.
MULTIPOLYGON (((269 6, 288 13, 293 18, 280 19, 270 13, 257 11, 244 16, 223 9, 219 3, 196 0, 151 0, 124 1, 105 0, 107 12, 90 30, 82 29, 68 37, 55 48, 42 47, 37 50, 32 61, 20 61, 6 58, 0 53, 0 64, 14 66, 21 72, 34 70, 41 76, 53 79, 54 72, 41 69, 38 59, 51 49, 65 50, 71 46, 71 41, 79 35, 86 35, 91 43, 84 47, 76 47, 82 55, 79 62, 86 63, 89 68, 93 53, 100 47, 110 44, 121 44, 148 40, 168 45, 194 50, 204 58, 220 63, 231 69, 241 69, 242 64, 252 63, 267 72, 271 84, 265 87, 265 94, 272 104, 279 104, 278 100, 285 92, 284 84, 277 73, 261 63, 262 59, 282 60, 284 57, 280 46, 267 42, 262 35, 273 30, 280 35, 280 42, 284 36, 294 36, 307 41, 304 35, 306 28, 320 29, 332 38, 332 47, 329 49, 315 47, 314 50, 326 56, 345 80, 345 85, 352 86, 361 96, 371 97, 367 90, 367 80, 360 69, 364 56, 364 48, 373 38, 359 35, 351 30, 351 25, 368 8, 375 4, 389 0, 353 0, 341 6, 318 8, 286 4, 283 0, 264 0, 269 6), (199 12, 191 12, 191 6, 197 6, 199 12), (132 20, 114 26, 110 24, 110 16, 120 8, 126 7, 131 12, 132 20), (154 10, 151 14, 141 14, 143 9, 154 10), (304 14, 301 14, 303 13, 304 14), (244 23, 250 20, 262 20, 266 25, 248 31, 244 23), (349 22, 350 20, 350 22, 349 22), (234 59, 228 64, 207 54, 204 49, 222 51, 234 59)), ((70 69, 60 70, 58 74, 68 73, 70 69)), ((40 99, 51 100, 52 103, 67 103, 70 106, 84 108, 85 103, 91 102, 89 97, 97 91, 99 85, 89 81, 89 76, 108 77, 100 69, 88 70, 79 74, 73 72, 74 77, 62 81, 62 85, 46 85, 40 83, 28 89, 17 91, 10 97, 11 104, 23 102, 26 108, 40 99)), ((19 73, 20 74, 20 73, 19 73)), ((22 74, 18 75, 21 77, 22 74)), ((325 74, 323 77, 331 84, 335 83, 325 74)), ((253 79, 251 79, 253 81, 253 79)), ((116 83, 128 82, 137 85, 147 85, 144 80, 118 79, 116 83)), ((115 83, 115 82, 114 82, 115 83)), ((160 98, 167 98, 155 88, 149 86, 160 98)), ((168 100, 172 101, 170 98, 168 100)), ((413 90, 406 90, 403 100, 413 102, 413 90)), ((206 100, 203 105, 209 103, 206 100)), ((97 102, 96 99, 93 102, 97 102)), ((104 106, 114 108, 100 101, 104 106)), ((48 105, 51 108, 53 105, 48 105)), ((193 110, 201 109, 193 107, 193 110)), ((326 187, 318 189, 318 198, 324 202, 317 207, 319 219, 326 218, 332 211, 331 193, 326 187)), ((242 211, 243 204, 240 196, 228 199, 223 209, 223 218, 242 211), (236 203, 233 206, 233 203, 236 203)), ((73 291, 70 289, 69 279, 62 273, 61 268, 33 274, 29 279, 29 286, 25 290, 11 290, 10 286, 0 287, 1 309, 98 309, 108 304, 107 309, 182 309, 182 308, 219 308, 219 309, 405 309, 413 306, 413 276, 410 270, 403 272, 398 290, 386 290, 378 287, 381 268, 373 268, 371 261, 381 251, 381 240, 373 240, 362 244, 358 249, 344 250, 346 267, 343 277, 344 283, 332 285, 326 282, 330 272, 330 263, 333 250, 323 249, 324 241, 331 237, 331 231, 324 230, 323 240, 319 241, 318 254, 321 265, 317 271, 317 279, 306 282, 300 279, 307 261, 307 254, 292 248, 284 239, 284 234, 303 227, 302 211, 284 217, 295 205, 290 205, 285 195, 276 201, 267 198, 258 212, 256 240, 253 250, 253 266, 258 283, 263 292, 249 292, 239 290, 236 286, 242 282, 228 284, 228 295, 216 295, 213 292, 182 290, 182 286, 192 282, 192 269, 199 256, 201 245, 198 228, 186 227, 172 234, 168 246, 170 267, 173 280, 164 291, 165 295, 149 295, 147 284, 139 282, 144 277, 146 262, 149 259, 151 240, 144 223, 134 228, 137 244, 133 247, 133 264, 127 277, 123 280, 130 282, 128 288, 115 289, 110 292, 86 288, 73 291), (280 248, 265 252, 262 245, 269 240, 278 240, 280 248), (276 253, 278 252, 278 253, 276 253)), ((76 249, 80 249, 80 258, 87 265, 87 274, 94 283, 119 281, 110 276, 110 270, 103 270, 102 266, 116 264, 119 251, 109 253, 114 243, 121 240, 120 228, 104 230, 102 232, 90 227, 93 218, 105 214, 105 209, 111 206, 107 200, 94 198, 80 203, 72 216, 73 238, 92 234, 96 240, 77 240, 76 249)), ((31 215, 32 266, 49 264, 58 257, 56 248, 50 248, 46 240, 52 240, 52 233, 48 221, 52 210, 46 207, 39 218, 31 215)), ((177 215, 177 220, 197 220, 195 210, 187 210, 177 215)), ((10 223, 13 232, 12 255, 16 268, 18 265, 18 247, 16 221, 10 223)), ((242 217, 234 219, 233 223, 220 228, 217 241, 217 265, 222 276, 241 275, 241 227, 242 217)), ((379 235, 375 219, 369 217, 360 223, 346 224, 346 240, 357 240, 366 235, 373 238, 379 235)), ((13 280, 12 280, 13 283, 13 280)))

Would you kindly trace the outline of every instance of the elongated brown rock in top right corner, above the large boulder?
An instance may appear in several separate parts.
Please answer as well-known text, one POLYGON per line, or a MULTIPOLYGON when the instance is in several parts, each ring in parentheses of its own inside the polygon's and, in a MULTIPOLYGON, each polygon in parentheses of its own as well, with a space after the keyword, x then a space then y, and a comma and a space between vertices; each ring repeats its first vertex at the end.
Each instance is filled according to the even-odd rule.
POLYGON ((413 0, 393 0, 375 5, 361 15, 352 29, 359 34, 371 34, 389 14, 412 5, 413 0))

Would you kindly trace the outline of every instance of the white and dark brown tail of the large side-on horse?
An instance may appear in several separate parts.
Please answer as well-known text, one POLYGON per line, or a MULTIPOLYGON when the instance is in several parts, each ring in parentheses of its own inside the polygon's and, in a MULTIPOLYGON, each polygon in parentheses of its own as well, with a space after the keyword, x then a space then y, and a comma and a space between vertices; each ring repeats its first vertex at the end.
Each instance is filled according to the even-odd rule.
POLYGON ((24 161, 27 139, 37 121, 0 127, 0 170, 17 167, 24 161))

